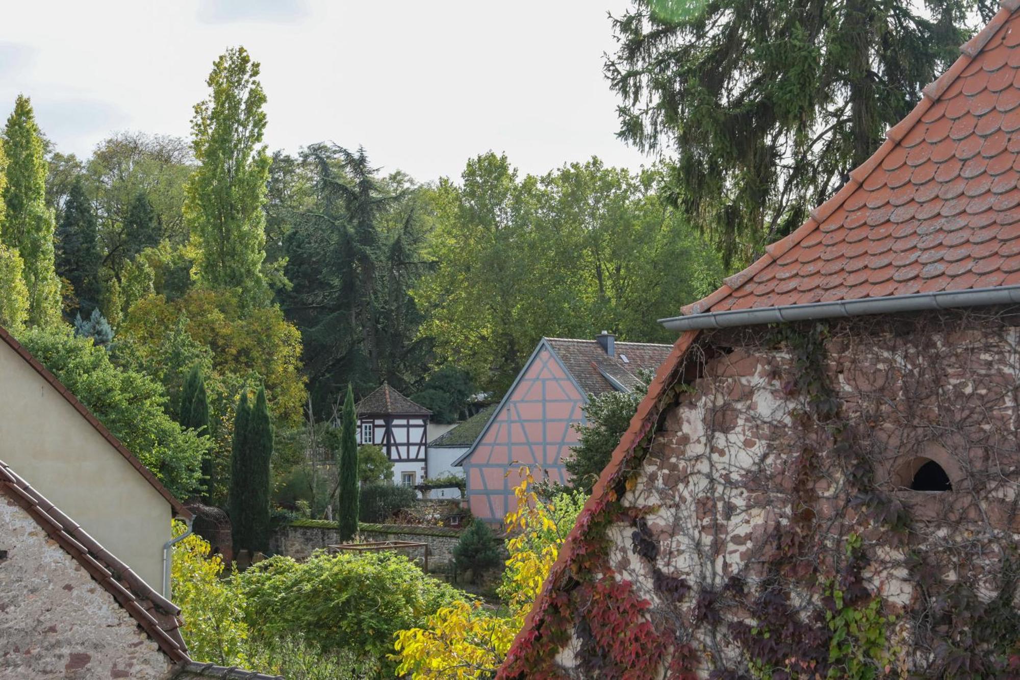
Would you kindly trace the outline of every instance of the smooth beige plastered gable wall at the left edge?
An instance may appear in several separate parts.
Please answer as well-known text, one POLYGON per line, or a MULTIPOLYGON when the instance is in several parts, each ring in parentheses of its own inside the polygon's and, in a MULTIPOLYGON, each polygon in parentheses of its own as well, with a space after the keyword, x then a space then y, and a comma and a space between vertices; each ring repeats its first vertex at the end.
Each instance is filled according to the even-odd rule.
POLYGON ((160 590, 169 502, 2 342, 0 460, 160 590))

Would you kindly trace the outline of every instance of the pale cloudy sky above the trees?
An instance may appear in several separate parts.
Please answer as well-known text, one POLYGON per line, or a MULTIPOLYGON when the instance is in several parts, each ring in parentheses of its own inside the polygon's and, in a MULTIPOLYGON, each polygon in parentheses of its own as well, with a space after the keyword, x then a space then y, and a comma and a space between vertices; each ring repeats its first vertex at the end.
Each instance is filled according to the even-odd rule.
MULTIPOLYGON (((32 97, 57 150, 88 156, 117 131, 187 137, 212 61, 262 64, 270 150, 362 145, 419 181, 505 152, 544 174, 598 155, 650 160, 615 137, 602 74, 607 11, 628 0, 139 0, 10 3, 0 112, 32 97)), ((5 115, 5 113, 4 113, 5 115)))

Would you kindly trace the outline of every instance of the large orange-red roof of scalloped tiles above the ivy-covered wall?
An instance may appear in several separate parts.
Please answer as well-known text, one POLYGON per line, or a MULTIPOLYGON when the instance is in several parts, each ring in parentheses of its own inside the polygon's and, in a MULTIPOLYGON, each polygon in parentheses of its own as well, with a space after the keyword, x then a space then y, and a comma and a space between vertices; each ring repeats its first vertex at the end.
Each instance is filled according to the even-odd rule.
POLYGON ((682 312, 1020 284, 1017 4, 803 226, 682 312))

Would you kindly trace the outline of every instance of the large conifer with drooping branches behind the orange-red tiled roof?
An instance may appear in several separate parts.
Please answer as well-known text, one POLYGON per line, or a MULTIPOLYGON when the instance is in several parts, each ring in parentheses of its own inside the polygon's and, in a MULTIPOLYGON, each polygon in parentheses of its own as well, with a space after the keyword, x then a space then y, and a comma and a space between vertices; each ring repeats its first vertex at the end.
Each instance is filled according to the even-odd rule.
POLYGON ((619 136, 673 157, 674 202, 740 264, 847 181, 991 4, 632 0, 605 66, 619 136))

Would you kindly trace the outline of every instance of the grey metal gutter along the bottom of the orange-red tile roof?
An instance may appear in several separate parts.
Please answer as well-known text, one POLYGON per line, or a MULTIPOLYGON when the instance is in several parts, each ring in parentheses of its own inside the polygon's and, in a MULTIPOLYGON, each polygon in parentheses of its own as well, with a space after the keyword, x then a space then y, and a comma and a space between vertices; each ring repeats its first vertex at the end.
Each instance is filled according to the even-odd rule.
POLYGON ((685 317, 660 319, 659 323, 670 331, 690 331, 696 329, 733 328, 734 326, 781 324, 816 319, 839 319, 864 314, 888 314, 902 311, 924 311, 928 309, 977 307, 1010 303, 1020 303, 1020 285, 974 288, 959 291, 944 290, 936 293, 912 293, 910 295, 889 295, 886 297, 867 297, 859 300, 839 300, 836 302, 786 304, 760 309, 727 309, 726 311, 702 312, 685 317))

